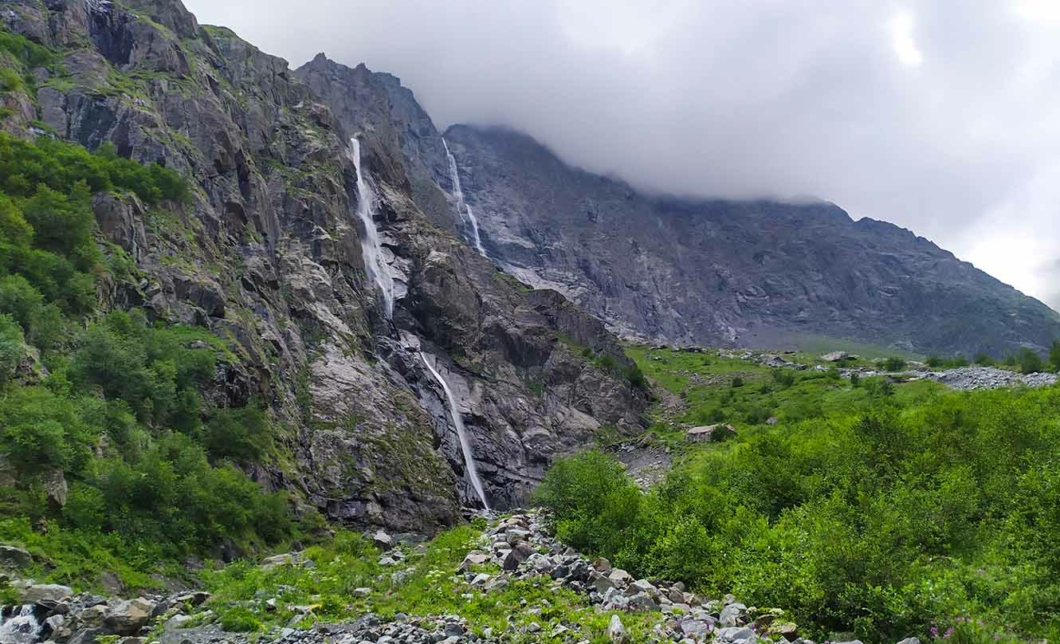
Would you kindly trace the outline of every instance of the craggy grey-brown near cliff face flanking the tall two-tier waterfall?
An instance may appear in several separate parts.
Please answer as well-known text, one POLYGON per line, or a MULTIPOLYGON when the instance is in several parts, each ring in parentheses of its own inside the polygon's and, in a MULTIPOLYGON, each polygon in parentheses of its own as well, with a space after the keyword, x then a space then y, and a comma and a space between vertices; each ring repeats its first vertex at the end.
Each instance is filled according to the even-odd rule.
POLYGON ((110 142, 192 183, 188 207, 98 200, 109 252, 135 264, 101 300, 229 340, 211 396, 259 397, 286 428, 289 462, 253 468, 265 485, 336 520, 455 521, 474 497, 421 352, 459 399, 497 506, 525 500, 549 460, 601 424, 641 423, 646 394, 621 373, 628 362, 602 323, 506 276, 446 230, 444 175, 408 163, 422 150, 399 136, 434 126, 422 110, 393 108, 404 105, 396 79, 373 77, 343 107, 360 119, 336 119, 284 60, 200 26, 178 0, 0 0, 0 26, 57 56, 0 96, 3 129, 110 142), (361 256, 353 136, 379 196, 392 320, 361 256))

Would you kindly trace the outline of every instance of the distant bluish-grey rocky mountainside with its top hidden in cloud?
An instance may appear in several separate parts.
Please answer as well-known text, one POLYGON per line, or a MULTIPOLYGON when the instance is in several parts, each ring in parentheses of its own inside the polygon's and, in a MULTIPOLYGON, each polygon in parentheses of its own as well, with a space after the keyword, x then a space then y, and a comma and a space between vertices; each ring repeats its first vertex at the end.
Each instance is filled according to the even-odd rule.
POLYGON ((490 256, 628 335, 773 347, 820 335, 1001 355, 1060 333, 1040 302, 830 203, 653 198, 516 132, 445 137, 490 256))

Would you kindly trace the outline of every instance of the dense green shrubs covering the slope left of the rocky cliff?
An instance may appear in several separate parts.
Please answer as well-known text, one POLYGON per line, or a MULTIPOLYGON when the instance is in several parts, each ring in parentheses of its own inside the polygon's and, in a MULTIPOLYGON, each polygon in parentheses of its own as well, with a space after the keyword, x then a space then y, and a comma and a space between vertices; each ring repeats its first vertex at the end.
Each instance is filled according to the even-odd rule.
POLYGON ((285 500, 232 465, 272 449, 265 412, 207 395, 236 360, 226 343, 96 294, 136 269, 98 241, 93 196, 162 209, 187 191, 107 146, 0 133, 0 540, 46 554, 52 578, 148 585, 292 530, 285 500))

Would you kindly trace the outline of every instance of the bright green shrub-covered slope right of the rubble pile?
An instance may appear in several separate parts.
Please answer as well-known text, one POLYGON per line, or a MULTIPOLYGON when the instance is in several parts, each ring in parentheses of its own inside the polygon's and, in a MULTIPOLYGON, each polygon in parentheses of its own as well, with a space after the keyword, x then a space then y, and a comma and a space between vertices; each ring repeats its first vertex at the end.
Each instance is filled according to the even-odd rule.
POLYGON ((558 464, 538 500, 561 539, 635 574, 782 606, 819 638, 1057 637, 1057 389, 956 393, 638 358, 683 397, 678 415, 735 423, 738 437, 677 448, 651 491, 601 452, 558 464))

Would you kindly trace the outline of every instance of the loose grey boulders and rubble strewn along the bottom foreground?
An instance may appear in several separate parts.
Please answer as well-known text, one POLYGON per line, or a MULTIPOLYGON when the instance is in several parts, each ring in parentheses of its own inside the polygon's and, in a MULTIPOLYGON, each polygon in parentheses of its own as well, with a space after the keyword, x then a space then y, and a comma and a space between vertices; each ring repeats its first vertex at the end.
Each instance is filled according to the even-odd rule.
MULTIPOLYGON (((390 544, 381 564, 393 566, 393 575, 402 574, 405 554, 385 533, 372 535, 375 543, 390 544)), ((312 566, 295 555, 278 555, 263 561, 264 567, 312 566)), ((634 642, 674 642, 677 644, 813 644, 799 637, 798 627, 783 611, 748 607, 731 595, 711 598, 690 592, 679 582, 640 579, 615 568, 604 558, 590 560, 564 545, 544 530, 536 514, 510 516, 483 532, 478 548, 471 551, 454 571, 481 592, 499 591, 516 580, 546 580, 553 588, 582 594, 599 613, 612 613, 607 637, 616 644, 634 642), (650 636, 636 637, 629 630, 632 613, 637 613, 634 632, 648 620, 650 636), (646 618, 647 615, 647 618, 646 618), (623 622, 625 620, 625 622, 623 622)), ((576 622, 543 624, 511 620, 502 632, 472 632, 460 615, 410 616, 403 613, 383 620, 365 614, 353 622, 314 624, 269 632, 233 633, 225 631, 218 615, 211 610, 193 610, 204 604, 205 592, 172 596, 143 596, 131 600, 105 600, 89 594, 75 595, 64 586, 22 583, 18 586, 25 606, 8 611, 4 618, 21 620, 12 632, 19 639, 0 644, 89 644, 107 637, 117 644, 500 644, 502 642, 565 642, 588 644, 595 633, 576 622), (32 613, 33 620, 28 619, 32 613), (38 621, 39 620, 39 621, 38 621), (147 636, 151 636, 147 638, 147 636)), ((262 592, 265 592, 263 589, 262 592)), ((371 589, 355 589, 354 594, 370 594, 371 589)), ((540 614, 534 606, 513 606, 512 614, 526 618, 540 614)), ((0 634, 4 632, 0 625, 0 634)), ((908 640, 905 644, 913 644, 908 640)), ((853 644, 853 643, 850 643, 853 644)))

